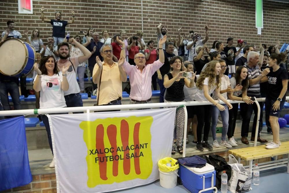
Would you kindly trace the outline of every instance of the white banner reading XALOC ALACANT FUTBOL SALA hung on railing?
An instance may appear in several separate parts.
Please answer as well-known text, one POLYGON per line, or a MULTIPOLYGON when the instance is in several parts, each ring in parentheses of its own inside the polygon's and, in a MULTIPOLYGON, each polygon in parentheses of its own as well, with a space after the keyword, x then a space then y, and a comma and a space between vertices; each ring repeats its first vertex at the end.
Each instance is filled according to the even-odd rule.
POLYGON ((57 192, 108 192, 159 179, 176 108, 48 115, 57 192))

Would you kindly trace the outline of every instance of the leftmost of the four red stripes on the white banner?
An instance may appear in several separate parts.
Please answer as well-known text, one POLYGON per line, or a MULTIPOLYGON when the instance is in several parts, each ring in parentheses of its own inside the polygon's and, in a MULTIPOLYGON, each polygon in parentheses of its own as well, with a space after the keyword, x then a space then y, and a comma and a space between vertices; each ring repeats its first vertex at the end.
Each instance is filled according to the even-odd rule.
POLYGON ((96 127, 96 136, 95 136, 95 148, 98 150, 102 150, 102 153, 97 152, 97 157, 99 157, 99 175, 100 178, 103 180, 107 180, 108 177, 106 176, 106 159, 105 159, 105 152, 104 152, 104 128, 103 125, 100 124, 96 127), (102 160, 103 159, 103 160, 102 160))

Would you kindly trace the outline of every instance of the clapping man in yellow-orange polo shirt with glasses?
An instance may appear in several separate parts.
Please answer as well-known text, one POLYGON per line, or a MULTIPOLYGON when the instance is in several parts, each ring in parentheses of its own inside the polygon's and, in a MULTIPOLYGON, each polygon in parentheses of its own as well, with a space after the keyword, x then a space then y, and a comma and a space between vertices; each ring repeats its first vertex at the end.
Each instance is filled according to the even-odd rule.
MULTIPOLYGON (((124 48, 121 50, 124 51, 124 48)), ((121 67, 125 58, 118 63, 112 60, 112 46, 104 44, 100 49, 103 62, 96 57, 97 63, 93 68, 92 80, 97 84, 97 105, 121 104, 122 82, 126 82, 127 75, 121 67)))

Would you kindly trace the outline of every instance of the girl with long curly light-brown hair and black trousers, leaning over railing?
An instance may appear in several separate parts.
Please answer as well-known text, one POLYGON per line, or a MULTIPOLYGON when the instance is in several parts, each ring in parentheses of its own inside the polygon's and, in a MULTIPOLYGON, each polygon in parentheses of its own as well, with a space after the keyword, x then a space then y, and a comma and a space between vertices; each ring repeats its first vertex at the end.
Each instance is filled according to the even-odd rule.
MULTIPOLYGON (((225 106, 216 102, 210 95, 215 91, 216 96, 225 102, 229 109, 232 105, 220 94, 220 77, 221 65, 218 61, 213 60, 208 63, 205 70, 201 73, 197 80, 198 91, 194 97, 194 101, 210 101, 220 111, 225 110, 225 106)), ((210 113, 211 105, 198 105, 195 108, 197 113, 198 125, 197 125, 197 149, 203 151, 203 147, 208 150, 213 150, 212 146, 208 143, 208 136, 210 131, 210 113), (204 126, 204 137, 202 143, 202 129, 204 126)))

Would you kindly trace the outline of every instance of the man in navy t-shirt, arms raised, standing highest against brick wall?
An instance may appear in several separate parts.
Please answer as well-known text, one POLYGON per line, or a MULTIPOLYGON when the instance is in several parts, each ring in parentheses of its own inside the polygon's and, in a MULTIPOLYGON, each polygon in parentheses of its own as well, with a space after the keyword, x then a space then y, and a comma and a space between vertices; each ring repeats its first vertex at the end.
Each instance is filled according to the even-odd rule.
POLYGON ((46 19, 44 17, 44 10, 45 8, 42 6, 40 9, 41 11, 41 19, 47 23, 51 23, 52 27, 52 36, 54 38, 54 45, 58 45, 59 43, 63 42, 65 37, 65 26, 68 24, 74 23, 74 11, 72 13, 72 20, 64 21, 61 20, 61 12, 55 12, 55 19, 46 19))

